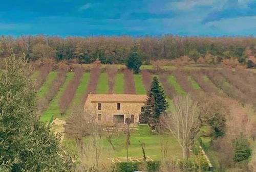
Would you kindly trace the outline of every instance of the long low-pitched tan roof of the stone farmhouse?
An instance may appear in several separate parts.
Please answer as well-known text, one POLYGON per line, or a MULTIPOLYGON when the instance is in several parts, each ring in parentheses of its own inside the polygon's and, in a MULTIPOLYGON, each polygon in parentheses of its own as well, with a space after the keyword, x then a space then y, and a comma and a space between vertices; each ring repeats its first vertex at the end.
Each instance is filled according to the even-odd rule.
POLYGON ((147 96, 145 94, 88 94, 91 102, 126 102, 126 103, 144 103, 147 96))

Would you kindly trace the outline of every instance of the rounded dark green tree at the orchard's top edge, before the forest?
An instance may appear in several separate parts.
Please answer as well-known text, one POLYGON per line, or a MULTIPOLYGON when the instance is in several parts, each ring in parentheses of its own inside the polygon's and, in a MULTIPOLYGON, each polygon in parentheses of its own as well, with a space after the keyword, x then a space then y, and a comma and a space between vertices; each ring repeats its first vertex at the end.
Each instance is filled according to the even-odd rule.
POLYGON ((131 53, 130 56, 128 57, 126 63, 126 67, 130 70, 133 70, 134 73, 139 73, 140 72, 140 66, 142 65, 142 62, 139 58, 138 53, 131 53))

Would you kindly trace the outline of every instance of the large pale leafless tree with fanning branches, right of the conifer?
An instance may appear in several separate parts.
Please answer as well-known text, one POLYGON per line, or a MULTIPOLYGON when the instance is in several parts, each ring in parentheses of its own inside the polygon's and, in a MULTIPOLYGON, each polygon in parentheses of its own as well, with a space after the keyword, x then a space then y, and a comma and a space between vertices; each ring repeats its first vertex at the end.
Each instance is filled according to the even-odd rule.
POLYGON ((160 125, 176 138, 181 146, 183 160, 189 158, 189 148, 199 132, 199 108, 189 95, 174 97, 172 113, 161 116, 160 125))

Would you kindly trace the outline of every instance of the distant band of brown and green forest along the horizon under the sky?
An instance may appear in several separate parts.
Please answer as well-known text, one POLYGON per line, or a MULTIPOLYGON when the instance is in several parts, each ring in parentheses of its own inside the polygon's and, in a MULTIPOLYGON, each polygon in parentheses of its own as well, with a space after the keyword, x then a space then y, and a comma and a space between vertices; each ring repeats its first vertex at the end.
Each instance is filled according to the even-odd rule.
POLYGON ((224 59, 237 59, 245 64, 250 56, 256 56, 256 37, 49 37, 1 36, 0 57, 8 57, 10 51, 25 54, 29 61, 54 58, 56 61, 72 60, 102 64, 123 64, 132 52, 140 55, 144 64, 154 60, 175 60, 187 56, 191 60, 215 57, 215 63, 224 59))

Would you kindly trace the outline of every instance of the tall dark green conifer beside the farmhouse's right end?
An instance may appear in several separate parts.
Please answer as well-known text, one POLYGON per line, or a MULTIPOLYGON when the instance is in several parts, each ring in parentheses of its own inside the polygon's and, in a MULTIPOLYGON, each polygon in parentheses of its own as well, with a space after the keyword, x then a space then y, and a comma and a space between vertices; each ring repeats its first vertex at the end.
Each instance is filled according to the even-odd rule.
POLYGON ((166 95, 160 86, 157 77, 153 78, 150 90, 147 92, 147 101, 142 109, 142 116, 148 124, 155 123, 162 112, 168 107, 166 95))

